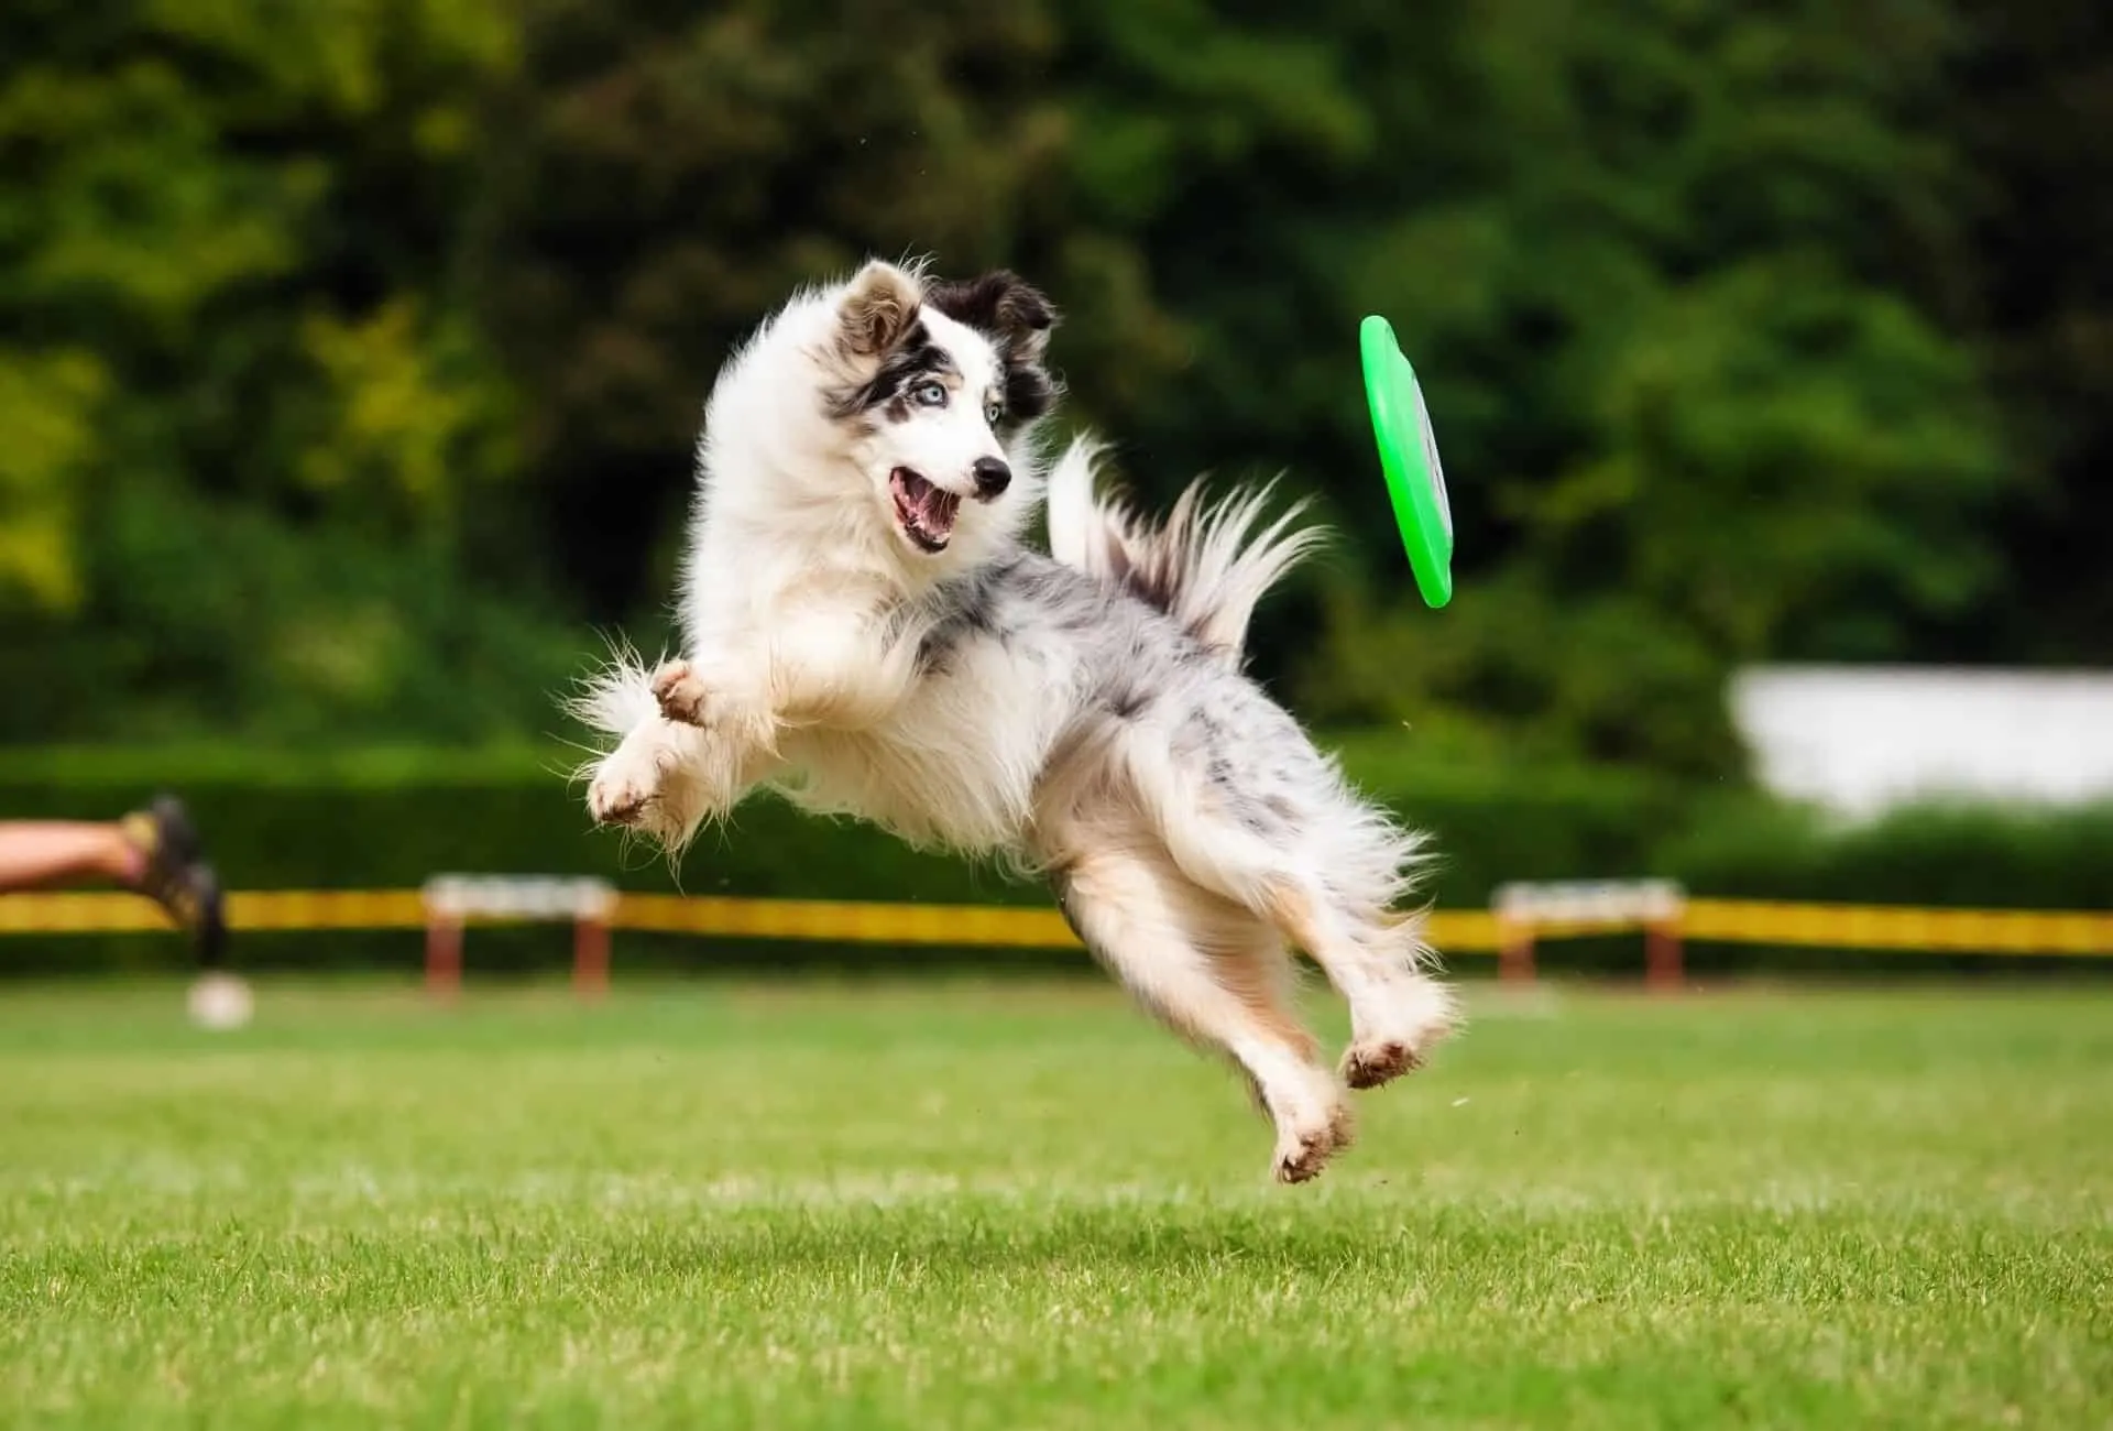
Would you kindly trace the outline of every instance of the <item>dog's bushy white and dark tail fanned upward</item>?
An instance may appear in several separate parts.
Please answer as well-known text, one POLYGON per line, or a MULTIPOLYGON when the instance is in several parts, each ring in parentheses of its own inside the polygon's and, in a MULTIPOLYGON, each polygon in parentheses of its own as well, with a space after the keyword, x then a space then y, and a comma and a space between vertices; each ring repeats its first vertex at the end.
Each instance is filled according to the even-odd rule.
POLYGON ((1207 505, 1200 480, 1152 526, 1120 497, 1095 490, 1099 457, 1101 446, 1080 438, 1050 473, 1050 554, 1152 602, 1238 666, 1255 605, 1327 539, 1325 528, 1299 524, 1306 501, 1264 524, 1274 482, 1207 505))

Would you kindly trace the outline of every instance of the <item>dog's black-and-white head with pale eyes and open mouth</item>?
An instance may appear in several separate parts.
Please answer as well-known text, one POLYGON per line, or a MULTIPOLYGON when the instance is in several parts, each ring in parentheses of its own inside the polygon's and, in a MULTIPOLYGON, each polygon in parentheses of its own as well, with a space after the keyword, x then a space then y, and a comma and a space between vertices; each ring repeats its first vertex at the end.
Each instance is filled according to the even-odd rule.
POLYGON ((837 298, 828 414, 913 560, 983 560, 1031 516, 1027 431, 1056 404, 1056 311, 1012 273, 923 281, 866 264, 837 298))

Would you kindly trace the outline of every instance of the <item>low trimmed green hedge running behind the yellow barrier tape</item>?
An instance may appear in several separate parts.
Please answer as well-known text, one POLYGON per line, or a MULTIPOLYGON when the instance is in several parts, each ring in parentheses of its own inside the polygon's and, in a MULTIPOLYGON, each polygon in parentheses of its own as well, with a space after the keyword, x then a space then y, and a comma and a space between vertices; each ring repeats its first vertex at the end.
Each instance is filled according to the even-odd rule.
MULTIPOLYGON (((1695 793, 1629 769, 1431 763, 1407 738, 1335 742, 1352 778, 1435 837, 1431 892, 1479 907, 1502 879, 1671 875, 1697 894, 1990 907, 2113 907, 2113 807, 1906 810, 1838 829, 1754 793, 1695 793)), ((560 746, 507 750, 0 750, 0 816, 108 818, 180 791, 237 888, 404 888, 437 871, 598 873, 625 890, 1044 903, 997 869, 917 854, 854 822, 756 799, 706 835, 680 875, 587 824, 560 746)), ((562 958, 551 932, 480 930, 484 966, 562 958)), ((1633 949, 1606 958, 1631 964, 1633 949)), ((873 964, 873 949, 714 947, 716 960, 873 964)), ((1583 951, 1581 951, 1583 953, 1583 951)), ((256 964, 416 962, 408 934, 251 936, 256 964)), ((625 938, 625 962, 695 962, 693 941, 625 938)), ((917 953, 919 962, 945 955, 917 953)), ((991 958, 991 955, 961 955, 991 958)), ((1016 964, 1018 955, 997 955, 1016 964)), ((1743 951, 1731 966, 1811 955, 1743 951)), ((0 970, 167 964, 167 941, 0 941, 0 970)), ((1843 966, 1840 960, 1832 962, 1843 966)), ((1897 960, 1893 960, 1897 964, 1897 960)), ((1853 960, 1849 966, 1864 966, 1853 960)))

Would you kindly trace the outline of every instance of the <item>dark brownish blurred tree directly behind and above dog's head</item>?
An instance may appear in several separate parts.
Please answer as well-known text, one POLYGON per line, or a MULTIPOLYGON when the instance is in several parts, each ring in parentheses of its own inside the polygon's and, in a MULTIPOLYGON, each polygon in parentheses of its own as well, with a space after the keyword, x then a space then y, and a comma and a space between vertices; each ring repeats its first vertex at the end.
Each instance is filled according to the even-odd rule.
POLYGON ((478 273, 535 395, 558 564, 596 617, 666 600, 712 374, 803 281, 868 254, 1010 262, 1067 309, 1086 402, 1164 378, 1171 328, 1139 256, 1063 209, 1090 116, 1048 80, 1061 36, 1040 0, 522 15, 478 273))

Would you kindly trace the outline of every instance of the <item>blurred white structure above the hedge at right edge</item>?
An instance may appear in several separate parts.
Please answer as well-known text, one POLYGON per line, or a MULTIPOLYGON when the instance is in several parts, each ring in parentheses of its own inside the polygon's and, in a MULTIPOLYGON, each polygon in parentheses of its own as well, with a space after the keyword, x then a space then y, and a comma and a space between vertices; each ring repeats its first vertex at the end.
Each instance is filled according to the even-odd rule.
POLYGON ((1847 816, 2113 799, 2113 672, 1756 666, 1731 708, 1766 788, 1847 816))

